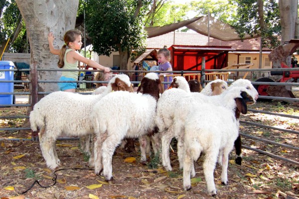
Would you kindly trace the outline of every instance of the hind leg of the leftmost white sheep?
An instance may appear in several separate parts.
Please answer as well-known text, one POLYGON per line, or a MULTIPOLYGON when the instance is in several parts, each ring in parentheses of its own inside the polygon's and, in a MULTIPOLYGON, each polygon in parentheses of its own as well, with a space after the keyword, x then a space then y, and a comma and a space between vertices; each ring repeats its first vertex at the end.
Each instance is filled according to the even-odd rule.
MULTIPOLYGON (((48 135, 53 135, 54 133, 51 131, 43 133, 39 136, 39 146, 41 149, 42 156, 44 157, 47 167, 51 170, 54 170, 58 167, 57 162, 60 162, 59 159, 55 158, 53 146, 55 145, 55 139, 48 135)), ((56 150, 55 150, 56 153, 56 150)), ((57 154, 56 154, 57 156, 57 154)))

